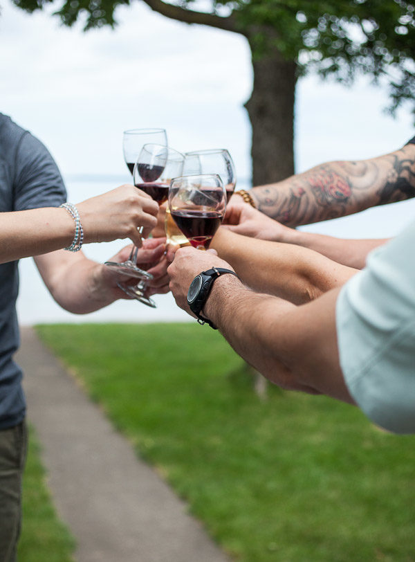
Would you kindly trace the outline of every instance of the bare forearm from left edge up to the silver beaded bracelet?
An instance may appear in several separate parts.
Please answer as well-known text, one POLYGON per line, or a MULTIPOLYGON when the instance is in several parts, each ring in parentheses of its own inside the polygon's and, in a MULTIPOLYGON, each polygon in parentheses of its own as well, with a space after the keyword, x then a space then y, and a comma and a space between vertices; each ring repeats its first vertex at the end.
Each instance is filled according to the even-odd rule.
POLYGON ((62 208, 0 213, 0 263, 70 246, 73 218, 62 208))

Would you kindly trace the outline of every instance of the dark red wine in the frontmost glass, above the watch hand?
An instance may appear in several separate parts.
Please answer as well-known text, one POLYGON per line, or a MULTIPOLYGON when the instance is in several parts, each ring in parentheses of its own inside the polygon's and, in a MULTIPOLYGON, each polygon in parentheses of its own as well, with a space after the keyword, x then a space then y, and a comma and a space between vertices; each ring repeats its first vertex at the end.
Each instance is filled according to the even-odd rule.
POLYGON ((214 233, 221 225, 223 215, 218 211, 177 209, 172 217, 178 228, 195 248, 208 249, 214 233))

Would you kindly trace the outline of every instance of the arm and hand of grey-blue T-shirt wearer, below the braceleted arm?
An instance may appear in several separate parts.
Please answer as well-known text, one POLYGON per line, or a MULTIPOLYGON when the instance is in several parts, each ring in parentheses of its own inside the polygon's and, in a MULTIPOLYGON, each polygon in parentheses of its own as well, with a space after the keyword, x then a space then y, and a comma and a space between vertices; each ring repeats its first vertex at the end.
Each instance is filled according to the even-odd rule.
MULTIPOLYGON (((148 271, 154 275, 149 282, 149 294, 167 292, 167 263, 163 254, 165 239, 145 240, 138 251, 138 264, 156 264, 148 271)), ((111 258, 127 260, 131 246, 111 258)), ((136 284, 137 279, 111 271, 104 264, 89 260, 82 251, 64 250, 35 257, 35 263, 50 294, 64 309, 73 314, 87 314, 110 305, 118 298, 128 298, 118 282, 136 284)))

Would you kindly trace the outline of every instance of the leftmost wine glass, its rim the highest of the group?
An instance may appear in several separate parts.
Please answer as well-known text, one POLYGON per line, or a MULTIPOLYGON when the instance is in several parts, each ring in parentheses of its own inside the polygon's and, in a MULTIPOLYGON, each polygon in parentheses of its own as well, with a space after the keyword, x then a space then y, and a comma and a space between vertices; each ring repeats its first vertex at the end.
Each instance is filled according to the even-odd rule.
MULTIPOLYGON (((159 145, 167 145, 167 134, 165 129, 129 129, 122 134, 122 152, 124 160, 131 174, 134 170, 134 165, 142 147, 147 143, 159 143, 159 145)), ((165 153, 165 156, 167 154, 165 153)), ((158 165, 163 166, 163 161, 159 158, 158 165)), ((155 173, 155 172, 154 172, 155 173)), ((105 262, 105 265, 118 273, 136 277, 138 279, 151 279, 151 273, 147 273, 140 269, 137 264, 138 248, 133 247, 129 258, 126 262, 105 262)))

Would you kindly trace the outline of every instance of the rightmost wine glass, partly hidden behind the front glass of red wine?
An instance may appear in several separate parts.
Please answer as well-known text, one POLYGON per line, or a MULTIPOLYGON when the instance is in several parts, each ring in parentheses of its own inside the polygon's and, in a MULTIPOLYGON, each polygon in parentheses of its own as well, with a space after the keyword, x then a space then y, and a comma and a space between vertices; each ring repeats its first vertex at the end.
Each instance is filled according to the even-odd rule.
POLYGON ((229 203, 237 185, 237 174, 228 150, 214 148, 186 152, 183 176, 194 174, 218 174, 226 191, 226 202, 229 203))

